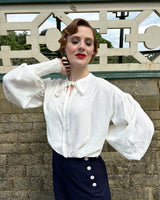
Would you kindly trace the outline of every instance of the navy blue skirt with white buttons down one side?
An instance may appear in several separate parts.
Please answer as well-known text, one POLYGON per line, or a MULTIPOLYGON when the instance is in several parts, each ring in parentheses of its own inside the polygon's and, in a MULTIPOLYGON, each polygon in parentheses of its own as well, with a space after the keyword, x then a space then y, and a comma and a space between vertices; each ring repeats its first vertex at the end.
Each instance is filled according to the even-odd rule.
POLYGON ((53 151, 56 200, 111 200, 106 166, 98 158, 65 158, 53 151))

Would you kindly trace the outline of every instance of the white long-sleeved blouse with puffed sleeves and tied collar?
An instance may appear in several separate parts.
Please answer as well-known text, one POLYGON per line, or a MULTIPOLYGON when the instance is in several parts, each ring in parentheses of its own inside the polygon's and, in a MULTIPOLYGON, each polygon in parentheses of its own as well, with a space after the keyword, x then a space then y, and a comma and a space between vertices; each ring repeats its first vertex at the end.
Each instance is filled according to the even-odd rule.
POLYGON ((99 156, 107 140, 127 159, 140 160, 154 127, 132 96, 92 73, 76 82, 41 78, 60 71, 58 59, 22 64, 4 76, 5 95, 22 108, 43 105, 48 142, 65 157, 99 156))

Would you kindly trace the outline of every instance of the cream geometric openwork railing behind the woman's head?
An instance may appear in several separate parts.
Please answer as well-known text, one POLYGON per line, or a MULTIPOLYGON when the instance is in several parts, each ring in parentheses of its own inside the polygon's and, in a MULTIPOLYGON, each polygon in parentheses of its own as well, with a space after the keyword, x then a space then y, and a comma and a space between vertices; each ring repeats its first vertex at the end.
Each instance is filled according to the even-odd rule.
MULTIPOLYGON (((54 27, 48 29, 45 36, 39 35, 39 27, 51 16, 56 16, 65 25, 71 22, 70 13, 96 13, 95 20, 89 20, 90 24, 99 29, 101 34, 107 34, 109 29, 128 29, 125 41, 129 43, 127 48, 107 48, 106 44, 100 44, 98 64, 90 64, 90 71, 132 71, 132 70, 160 70, 160 55, 150 60, 138 50, 139 42, 143 42, 147 49, 156 49, 160 45, 160 26, 150 24, 144 33, 139 33, 139 25, 152 13, 160 17, 160 2, 145 3, 76 3, 76 4, 25 4, 0 6, 0 35, 7 35, 8 31, 30 31, 26 43, 31 45, 30 50, 15 51, 10 46, 1 46, 0 73, 6 73, 13 67, 13 58, 35 58, 38 62, 48 60, 40 51, 40 44, 46 44, 49 50, 58 49, 60 31, 54 27), (108 15, 113 12, 137 12, 133 19, 110 20, 108 15), (10 22, 7 21, 8 14, 36 14, 32 21, 10 22), (108 57, 131 56, 136 63, 108 63, 108 57)), ((108 33, 109 34, 109 33, 108 33)))

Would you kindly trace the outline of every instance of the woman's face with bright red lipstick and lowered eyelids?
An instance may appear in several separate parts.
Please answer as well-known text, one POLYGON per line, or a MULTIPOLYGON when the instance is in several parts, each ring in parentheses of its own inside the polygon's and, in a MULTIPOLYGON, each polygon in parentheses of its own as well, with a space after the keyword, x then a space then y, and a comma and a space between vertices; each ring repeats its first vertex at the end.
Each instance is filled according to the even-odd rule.
POLYGON ((65 50, 71 66, 86 67, 94 55, 92 30, 86 26, 79 26, 77 33, 67 37, 65 50))

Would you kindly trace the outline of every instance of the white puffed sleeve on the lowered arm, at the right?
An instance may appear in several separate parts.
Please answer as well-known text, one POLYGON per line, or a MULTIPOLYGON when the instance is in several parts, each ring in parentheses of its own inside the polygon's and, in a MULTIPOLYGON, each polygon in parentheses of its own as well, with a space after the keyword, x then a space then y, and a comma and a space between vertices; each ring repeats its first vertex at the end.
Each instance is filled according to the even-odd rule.
POLYGON ((148 115, 130 94, 116 89, 111 120, 113 123, 106 136, 108 143, 127 159, 140 160, 154 133, 148 115))

